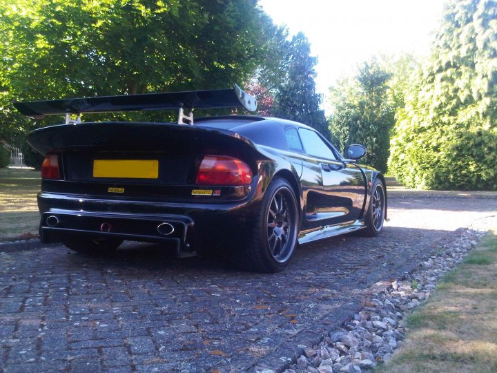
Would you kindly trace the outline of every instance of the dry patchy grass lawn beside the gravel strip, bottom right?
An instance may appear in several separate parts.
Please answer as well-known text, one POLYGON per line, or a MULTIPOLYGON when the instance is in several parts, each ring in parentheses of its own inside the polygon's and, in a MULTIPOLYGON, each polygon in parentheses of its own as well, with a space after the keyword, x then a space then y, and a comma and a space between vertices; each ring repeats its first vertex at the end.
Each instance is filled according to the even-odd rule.
POLYGON ((407 325, 405 344, 376 372, 497 372, 497 227, 407 325))

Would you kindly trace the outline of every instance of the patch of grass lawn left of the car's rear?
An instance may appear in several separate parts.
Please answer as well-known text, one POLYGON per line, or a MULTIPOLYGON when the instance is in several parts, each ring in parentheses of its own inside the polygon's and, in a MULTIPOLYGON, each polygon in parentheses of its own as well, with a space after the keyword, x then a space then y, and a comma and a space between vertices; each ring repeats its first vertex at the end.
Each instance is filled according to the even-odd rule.
POLYGON ((38 236, 39 171, 0 169, 0 242, 38 236))

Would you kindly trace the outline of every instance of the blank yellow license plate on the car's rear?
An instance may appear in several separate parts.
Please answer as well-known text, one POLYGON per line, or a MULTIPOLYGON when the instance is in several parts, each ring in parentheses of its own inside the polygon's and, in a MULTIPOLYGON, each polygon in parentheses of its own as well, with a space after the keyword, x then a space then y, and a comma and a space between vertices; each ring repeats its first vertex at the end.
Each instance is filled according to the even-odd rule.
POLYGON ((93 160, 94 178, 159 178, 158 160, 93 160))

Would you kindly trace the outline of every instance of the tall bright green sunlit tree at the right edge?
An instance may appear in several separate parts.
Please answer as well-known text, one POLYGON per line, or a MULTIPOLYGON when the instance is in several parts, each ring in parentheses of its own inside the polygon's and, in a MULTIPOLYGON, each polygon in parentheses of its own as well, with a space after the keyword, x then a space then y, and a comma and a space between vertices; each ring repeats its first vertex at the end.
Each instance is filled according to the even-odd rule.
POLYGON ((389 170, 411 187, 497 189, 497 3, 449 1, 409 85, 389 170))

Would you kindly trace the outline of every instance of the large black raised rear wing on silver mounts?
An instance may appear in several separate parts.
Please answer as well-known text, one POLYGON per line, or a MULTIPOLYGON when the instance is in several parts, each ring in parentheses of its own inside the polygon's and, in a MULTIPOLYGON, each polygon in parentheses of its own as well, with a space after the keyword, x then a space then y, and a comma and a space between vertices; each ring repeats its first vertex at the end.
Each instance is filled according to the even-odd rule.
POLYGON ((66 124, 71 122, 71 114, 78 115, 78 123, 81 113, 179 109, 178 123, 182 124, 186 119, 193 124, 193 113, 184 115, 185 108, 193 111, 194 108, 243 107, 255 111, 257 100, 234 84, 233 89, 14 102, 14 107, 32 119, 43 119, 46 115, 66 115, 66 124))

